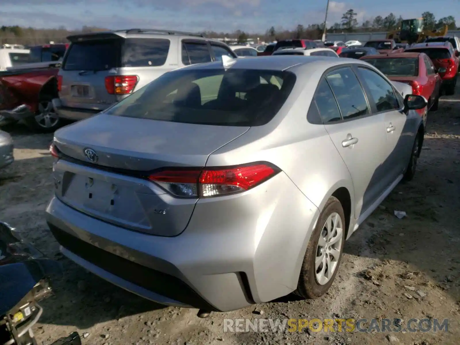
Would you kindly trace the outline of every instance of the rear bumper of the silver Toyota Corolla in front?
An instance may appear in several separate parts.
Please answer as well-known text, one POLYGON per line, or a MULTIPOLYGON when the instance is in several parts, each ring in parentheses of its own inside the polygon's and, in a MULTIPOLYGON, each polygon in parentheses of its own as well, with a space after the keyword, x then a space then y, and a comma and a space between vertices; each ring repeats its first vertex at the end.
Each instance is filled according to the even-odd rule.
POLYGON ((264 184, 248 194, 198 201, 175 237, 100 221, 56 196, 46 220, 64 255, 121 288, 164 305, 231 311, 297 288, 319 216, 284 173, 264 184))

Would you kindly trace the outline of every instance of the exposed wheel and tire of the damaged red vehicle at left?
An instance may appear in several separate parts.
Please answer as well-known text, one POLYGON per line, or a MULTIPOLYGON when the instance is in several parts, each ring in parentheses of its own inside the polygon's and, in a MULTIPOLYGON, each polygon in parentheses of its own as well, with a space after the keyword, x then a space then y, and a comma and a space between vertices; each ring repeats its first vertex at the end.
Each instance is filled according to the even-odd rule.
POLYGON ((62 119, 54 112, 52 108, 52 96, 43 95, 39 100, 39 110, 34 116, 24 119, 24 123, 34 132, 50 133, 62 126, 62 119), (50 110, 51 109, 51 110, 50 110), (40 115, 43 115, 40 119, 40 115), (46 120, 46 118, 49 119, 46 120))

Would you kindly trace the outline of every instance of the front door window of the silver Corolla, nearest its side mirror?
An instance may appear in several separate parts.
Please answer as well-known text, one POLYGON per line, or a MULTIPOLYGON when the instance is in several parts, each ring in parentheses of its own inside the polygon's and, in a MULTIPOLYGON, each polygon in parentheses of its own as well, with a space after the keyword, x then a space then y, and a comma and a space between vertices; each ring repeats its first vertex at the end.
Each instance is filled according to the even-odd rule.
POLYGON ((395 92, 388 81, 370 69, 358 68, 358 71, 370 89, 378 112, 399 109, 395 92))

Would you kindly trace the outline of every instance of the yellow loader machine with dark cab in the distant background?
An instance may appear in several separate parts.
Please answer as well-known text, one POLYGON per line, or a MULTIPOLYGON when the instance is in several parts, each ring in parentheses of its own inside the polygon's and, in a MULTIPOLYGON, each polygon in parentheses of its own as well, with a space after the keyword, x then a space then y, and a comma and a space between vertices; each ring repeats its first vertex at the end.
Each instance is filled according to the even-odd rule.
POLYGON ((401 27, 397 30, 390 31, 386 38, 395 40, 397 43, 420 43, 427 37, 447 35, 448 26, 444 25, 442 29, 431 31, 424 29, 423 18, 405 19, 401 22, 401 27))

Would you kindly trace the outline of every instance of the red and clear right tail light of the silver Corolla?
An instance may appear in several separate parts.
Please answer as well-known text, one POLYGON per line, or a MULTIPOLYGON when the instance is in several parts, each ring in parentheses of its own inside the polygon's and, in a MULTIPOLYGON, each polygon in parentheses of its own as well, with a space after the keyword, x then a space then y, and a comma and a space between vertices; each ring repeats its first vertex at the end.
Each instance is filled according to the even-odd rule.
POLYGON ((152 173, 150 181, 178 197, 223 196, 244 192, 272 178, 281 170, 258 162, 233 167, 167 168, 152 173))

